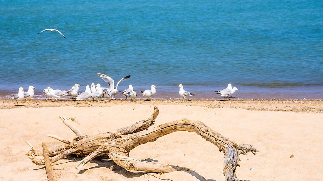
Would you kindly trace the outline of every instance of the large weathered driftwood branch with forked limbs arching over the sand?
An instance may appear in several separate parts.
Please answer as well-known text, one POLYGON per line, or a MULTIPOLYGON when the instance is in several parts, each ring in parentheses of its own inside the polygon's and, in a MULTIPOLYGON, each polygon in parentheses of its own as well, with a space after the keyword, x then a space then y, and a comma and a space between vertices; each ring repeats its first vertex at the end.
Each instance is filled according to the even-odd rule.
MULTIPOLYGON (((127 170, 157 173, 190 170, 185 167, 136 160, 129 157, 129 152, 138 145, 155 141, 159 137, 175 131, 193 131, 202 136, 205 140, 213 143, 220 151, 224 152, 225 159, 223 174, 225 176, 225 180, 237 181, 239 179, 236 178, 235 170, 238 166, 239 155, 246 155, 249 151, 253 154, 256 154, 257 152, 257 149, 252 145, 237 144, 230 141, 200 121, 182 119, 161 124, 151 130, 147 130, 148 127, 154 124, 158 113, 159 110, 155 107, 151 117, 146 120, 136 122, 133 125, 116 131, 96 135, 86 135, 79 131, 78 128, 72 126, 68 119, 60 117, 78 137, 74 138, 74 140, 68 141, 67 139, 60 138, 56 135, 47 135, 63 142, 62 144, 48 148, 49 156, 51 156, 50 162, 54 163, 71 154, 78 154, 87 156, 76 166, 77 169, 83 167, 91 159, 103 156, 105 158, 109 157, 109 159, 112 159, 115 164, 127 170)), ((43 150, 32 148, 27 155, 36 165, 45 164, 44 159, 37 159, 35 157, 42 156, 43 150)))

